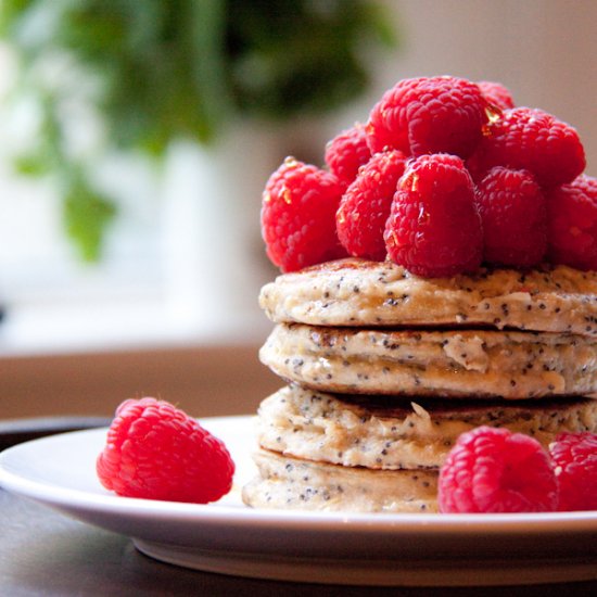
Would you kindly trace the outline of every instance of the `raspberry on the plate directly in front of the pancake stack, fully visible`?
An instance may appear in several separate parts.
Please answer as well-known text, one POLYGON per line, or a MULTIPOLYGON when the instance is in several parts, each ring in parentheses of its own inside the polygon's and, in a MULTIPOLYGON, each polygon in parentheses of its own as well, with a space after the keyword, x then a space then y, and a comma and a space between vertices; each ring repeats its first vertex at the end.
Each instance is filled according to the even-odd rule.
POLYGON ((479 427, 462 433, 440 470, 442 512, 543 512, 558 505, 548 454, 534 439, 479 427))

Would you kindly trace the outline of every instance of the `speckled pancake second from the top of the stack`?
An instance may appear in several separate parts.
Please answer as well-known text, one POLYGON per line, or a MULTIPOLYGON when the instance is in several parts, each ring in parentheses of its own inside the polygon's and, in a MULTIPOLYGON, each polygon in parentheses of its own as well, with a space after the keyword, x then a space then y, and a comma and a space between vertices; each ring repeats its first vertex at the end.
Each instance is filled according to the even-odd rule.
POLYGON ((510 399, 597 392, 597 339, 573 334, 280 323, 259 357, 283 379, 323 392, 510 399))

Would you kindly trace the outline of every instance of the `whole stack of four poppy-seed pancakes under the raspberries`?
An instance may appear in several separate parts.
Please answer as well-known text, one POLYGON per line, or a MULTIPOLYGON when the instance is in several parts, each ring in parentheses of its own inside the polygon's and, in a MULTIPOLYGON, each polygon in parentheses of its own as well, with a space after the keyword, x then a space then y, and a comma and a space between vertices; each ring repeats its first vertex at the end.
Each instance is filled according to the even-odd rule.
POLYGON ((250 506, 437 509, 458 435, 508 428, 544 446, 597 431, 597 274, 566 266, 423 279, 390 262, 279 276, 262 361, 288 385, 258 410, 250 506))

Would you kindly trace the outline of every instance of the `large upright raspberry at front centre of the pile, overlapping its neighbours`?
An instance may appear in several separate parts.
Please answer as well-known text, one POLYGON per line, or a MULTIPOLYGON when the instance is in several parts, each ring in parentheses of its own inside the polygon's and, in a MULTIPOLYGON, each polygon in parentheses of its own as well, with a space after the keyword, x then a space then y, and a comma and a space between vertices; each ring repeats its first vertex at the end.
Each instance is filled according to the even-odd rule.
POLYGON ((389 257, 418 276, 446 277, 479 267, 481 218, 459 157, 422 155, 407 163, 384 240, 389 257))

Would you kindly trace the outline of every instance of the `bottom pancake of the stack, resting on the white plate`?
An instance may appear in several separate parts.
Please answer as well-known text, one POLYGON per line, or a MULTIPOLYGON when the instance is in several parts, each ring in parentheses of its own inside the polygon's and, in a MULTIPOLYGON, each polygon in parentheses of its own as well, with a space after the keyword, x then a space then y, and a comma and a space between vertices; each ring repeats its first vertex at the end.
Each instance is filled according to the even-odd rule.
POLYGON ((344 512, 435 512, 437 471, 370 470, 261 449, 258 477, 243 487, 255 508, 344 512))

